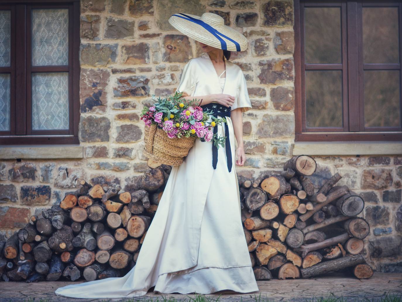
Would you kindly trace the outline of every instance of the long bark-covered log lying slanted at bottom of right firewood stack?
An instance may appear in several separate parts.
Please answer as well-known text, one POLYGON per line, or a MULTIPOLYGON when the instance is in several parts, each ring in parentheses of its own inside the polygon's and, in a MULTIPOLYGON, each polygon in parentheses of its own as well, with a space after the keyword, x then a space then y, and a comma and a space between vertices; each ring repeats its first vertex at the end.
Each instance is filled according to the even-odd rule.
POLYGON ((339 269, 344 269, 346 267, 354 266, 360 263, 364 263, 363 255, 348 255, 342 258, 325 261, 308 267, 306 269, 301 269, 301 275, 303 278, 315 277, 317 275, 322 275, 324 273, 330 273, 337 271, 339 269))

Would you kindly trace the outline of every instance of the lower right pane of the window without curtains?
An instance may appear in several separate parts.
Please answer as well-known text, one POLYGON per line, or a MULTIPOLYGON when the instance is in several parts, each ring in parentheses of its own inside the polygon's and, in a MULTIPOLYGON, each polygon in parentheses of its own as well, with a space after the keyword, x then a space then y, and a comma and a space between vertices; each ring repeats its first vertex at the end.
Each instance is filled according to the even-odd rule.
POLYGON ((399 70, 366 70, 364 72, 365 127, 398 127, 400 125, 399 70))

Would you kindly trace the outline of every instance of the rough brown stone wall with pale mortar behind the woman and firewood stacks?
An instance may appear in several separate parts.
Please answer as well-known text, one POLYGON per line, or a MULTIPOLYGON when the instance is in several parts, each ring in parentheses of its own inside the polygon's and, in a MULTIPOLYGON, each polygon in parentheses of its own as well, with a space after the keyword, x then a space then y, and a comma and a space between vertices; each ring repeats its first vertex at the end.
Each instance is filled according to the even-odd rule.
MULTIPOLYGON (((31 214, 59 203, 81 178, 130 186, 149 168, 139 115, 150 96, 176 89, 186 62, 201 49, 167 22, 175 12, 214 12, 249 39, 232 53, 247 80, 253 109, 243 114, 246 163, 240 177, 280 171, 294 142, 293 2, 291 0, 82 0, 81 160, 0 163, 0 237, 31 214)), ((371 224, 367 259, 377 270, 402 271, 402 157, 315 157, 319 187, 333 173, 362 193, 371 224)))

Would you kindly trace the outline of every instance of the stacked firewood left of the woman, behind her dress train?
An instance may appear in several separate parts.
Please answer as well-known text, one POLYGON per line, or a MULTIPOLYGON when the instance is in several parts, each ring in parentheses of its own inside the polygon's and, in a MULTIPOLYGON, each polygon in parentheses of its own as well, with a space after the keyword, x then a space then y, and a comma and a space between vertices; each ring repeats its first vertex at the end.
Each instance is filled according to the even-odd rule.
POLYGON ((152 169, 129 192, 81 180, 59 205, 31 216, 25 228, 0 241, 0 280, 92 281, 127 273, 172 169, 152 160, 148 165, 152 169))

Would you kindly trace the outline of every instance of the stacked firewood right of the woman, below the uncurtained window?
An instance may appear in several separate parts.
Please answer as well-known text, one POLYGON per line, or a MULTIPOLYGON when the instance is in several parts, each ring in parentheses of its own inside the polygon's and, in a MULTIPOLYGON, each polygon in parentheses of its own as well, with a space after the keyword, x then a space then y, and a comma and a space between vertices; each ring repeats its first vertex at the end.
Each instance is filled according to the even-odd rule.
POLYGON ((318 190, 310 156, 294 156, 277 175, 240 182, 244 234, 257 280, 309 278, 338 270, 359 279, 373 275, 363 238, 370 233, 361 196, 335 186, 338 173, 318 190))

